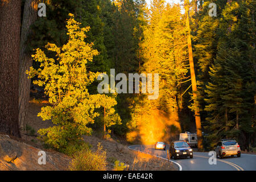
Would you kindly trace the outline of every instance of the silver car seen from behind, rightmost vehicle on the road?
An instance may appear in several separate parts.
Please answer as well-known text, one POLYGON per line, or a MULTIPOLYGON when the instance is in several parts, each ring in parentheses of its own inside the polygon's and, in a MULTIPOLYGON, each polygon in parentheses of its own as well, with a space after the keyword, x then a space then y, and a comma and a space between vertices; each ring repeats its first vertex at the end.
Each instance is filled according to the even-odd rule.
POLYGON ((217 143, 215 151, 220 159, 224 158, 225 156, 234 155, 236 155, 238 158, 241 157, 240 145, 236 140, 233 139, 222 139, 217 143))

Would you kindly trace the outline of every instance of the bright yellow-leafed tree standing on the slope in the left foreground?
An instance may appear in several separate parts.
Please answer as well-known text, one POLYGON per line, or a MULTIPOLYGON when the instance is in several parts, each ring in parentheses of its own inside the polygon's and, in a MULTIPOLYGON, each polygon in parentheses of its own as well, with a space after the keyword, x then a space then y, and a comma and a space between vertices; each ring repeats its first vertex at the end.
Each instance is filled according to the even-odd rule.
MULTIPOLYGON (((99 73, 88 71, 86 64, 93 61, 98 51, 93 49, 93 43, 86 43, 85 32, 90 27, 80 28, 79 22, 69 14, 67 20, 67 35, 69 40, 63 47, 48 43, 48 51, 55 52, 56 59, 48 58, 41 49, 36 49, 32 55, 40 63, 39 69, 30 68, 30 77, 38 77, 33 83, 45 86, 45 93, 49 97, 51 106, 42 107, 38 114, 43 121, 51 119, 55 126, 40 129, 40 135, 46 135, 46 144, 60 151, 70 144, 81 142, 81 135, 89 135, 92 129, 87 127, 100 114, 94 111, 104 104, 109 115, 114 114, 112 108, 116 102, 112 97, 101 94, 91 95, 87 87, 96 80, 99 73)), ((109 126, 114 122, 108 123, 109 126)), ((68 149, 69 151, 69 149, 68 149)))

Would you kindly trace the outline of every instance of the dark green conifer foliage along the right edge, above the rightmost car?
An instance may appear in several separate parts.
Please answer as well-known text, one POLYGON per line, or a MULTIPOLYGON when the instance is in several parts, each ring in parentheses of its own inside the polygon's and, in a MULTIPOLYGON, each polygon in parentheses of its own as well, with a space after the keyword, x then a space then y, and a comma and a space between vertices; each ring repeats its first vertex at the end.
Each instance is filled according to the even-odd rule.
POLYGON ((250 40, 255 32, 253 9, 255 3, 240 1, 222 11, 217 55, 205 89, 205 129, 214 142, 220 138, 248 140, 255 132, 251 109, 255 96, 255 51, 250 40))

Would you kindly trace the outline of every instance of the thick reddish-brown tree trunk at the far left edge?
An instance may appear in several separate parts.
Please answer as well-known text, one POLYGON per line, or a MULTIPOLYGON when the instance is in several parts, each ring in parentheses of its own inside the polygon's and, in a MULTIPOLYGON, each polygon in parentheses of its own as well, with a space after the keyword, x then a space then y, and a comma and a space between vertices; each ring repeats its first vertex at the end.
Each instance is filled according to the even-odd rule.
POLYGON ((20 137, 19 39, 21 0, 0 0, 0 132, 20 137))

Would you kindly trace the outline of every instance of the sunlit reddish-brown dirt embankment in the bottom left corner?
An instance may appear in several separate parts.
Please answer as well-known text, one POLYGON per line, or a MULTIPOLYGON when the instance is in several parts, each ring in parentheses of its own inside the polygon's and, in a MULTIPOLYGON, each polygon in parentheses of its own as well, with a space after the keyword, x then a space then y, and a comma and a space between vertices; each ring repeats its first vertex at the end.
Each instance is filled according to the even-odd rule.
POLYGON ((41 150, 25 142, 22 139, 16 140, 8 135, 0 134, 0 171, 63 171, 68 169, 71 162, 68 156, 55 151, 41 150), (39 164, 43 162, 39 160, 41 157, 38 155, 39 151, 46 152, 46 164, 39 164))

